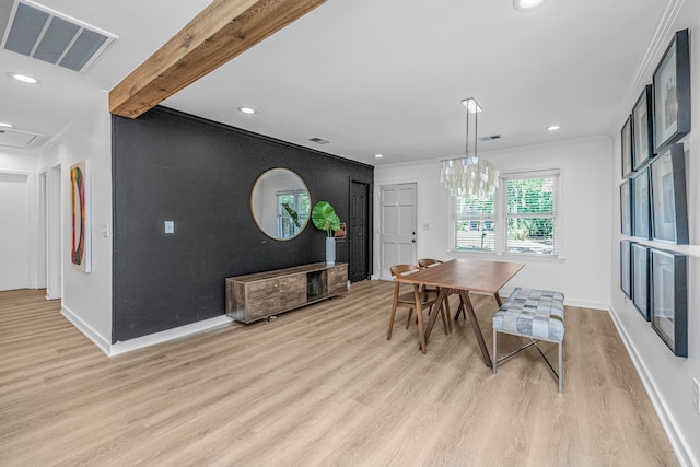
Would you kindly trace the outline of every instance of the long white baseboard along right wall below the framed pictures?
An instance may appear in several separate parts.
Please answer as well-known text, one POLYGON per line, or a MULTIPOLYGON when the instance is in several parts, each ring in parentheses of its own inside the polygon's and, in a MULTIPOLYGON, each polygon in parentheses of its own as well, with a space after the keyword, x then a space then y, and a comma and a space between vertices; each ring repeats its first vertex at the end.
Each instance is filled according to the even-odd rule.
POLYGON ((644 361, 640 359, 634 343, 632 343, 629 336, 627 335, 627 331, 625 330, 625 327, 622 327, 617 312, 610 306, 608 308, 608 313, 612 318, 612 323, 615 323, 615 327, 617 328, 618 334, 622 338, 622 343, 625 343, 625 347, 627 348, 627 353, 630 354, 630 359, 632 359, 632 363, 634 364, 637 373, 639 373, 639 376, 644 384, 644 388, 646 388, 646 393, 649 394, 650 399, 652 399, 652 404, 654 405, 654 409, 656 409, 656 413, 658 415, 661 424, 664 427, 664 431, 668 436, 668 441, 670 442, 670 445, 674 448, 674 452, 676 453, 680 465, 684 467, 700 465, 698 464, 698 459, 695 458, 692 452, 690 451, 690 446, 686 437, 682 435, 680 430, 678 430, 676 420, 668 410, 666 401, 661 396, 661 393, 658 392, 653 377, 651 377, 651 374, 646 369, 644 361))

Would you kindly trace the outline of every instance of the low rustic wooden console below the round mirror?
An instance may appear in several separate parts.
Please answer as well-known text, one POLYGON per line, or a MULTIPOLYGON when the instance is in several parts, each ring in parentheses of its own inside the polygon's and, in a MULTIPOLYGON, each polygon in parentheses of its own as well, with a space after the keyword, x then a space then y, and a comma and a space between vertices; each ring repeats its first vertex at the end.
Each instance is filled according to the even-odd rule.
POLYGON ((348 265, 326 262, 226 278, 226 315, 253 323, 348 291, 348 265))

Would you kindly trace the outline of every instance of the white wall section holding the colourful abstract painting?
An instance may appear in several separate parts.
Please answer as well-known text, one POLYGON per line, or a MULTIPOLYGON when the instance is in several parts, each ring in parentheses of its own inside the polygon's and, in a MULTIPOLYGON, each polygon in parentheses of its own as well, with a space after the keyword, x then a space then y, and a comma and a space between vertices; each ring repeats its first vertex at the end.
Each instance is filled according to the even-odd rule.
POLYGON ((61 167, 62 313, 103 351, 112 342, 112 124, 107 95, 39 154, 61 167), (70 166, 92 161, 92 272, 71 266, 70 166), (107 236, 103 236, 106 225, 107 236))

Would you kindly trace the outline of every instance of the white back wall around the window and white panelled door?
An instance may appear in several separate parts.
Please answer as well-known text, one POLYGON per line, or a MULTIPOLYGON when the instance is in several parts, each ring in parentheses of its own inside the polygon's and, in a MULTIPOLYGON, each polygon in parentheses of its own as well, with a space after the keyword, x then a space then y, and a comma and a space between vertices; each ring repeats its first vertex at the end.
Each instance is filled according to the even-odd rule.
MULTIPOLYGON (((375 207, 382 185, 418 184, 418 257, 450 259, 465 256, 478 259, 517 260, 526 264, 504 288, 535 287, 564 292, 567 303, 608 308, 610 296, 610 231, 612 200, 605 190, 612 180, 612 142, 607 137, 526 147, 499 152, 481 152, 501 172, 559 168, 561 171, 560 259, 527 256, 494 256, 478 253, 448 254, 448 191, 440 183, 440 162, 375 167, 375 207), (424 230, 423 224, 429 229, 424 230)), ((458 154, 456 156, 459 156, 458 154)), ((378 218, 374 225, 380 225, 378 218)), ((381 258, 375 232, 375 265, 381 258)))

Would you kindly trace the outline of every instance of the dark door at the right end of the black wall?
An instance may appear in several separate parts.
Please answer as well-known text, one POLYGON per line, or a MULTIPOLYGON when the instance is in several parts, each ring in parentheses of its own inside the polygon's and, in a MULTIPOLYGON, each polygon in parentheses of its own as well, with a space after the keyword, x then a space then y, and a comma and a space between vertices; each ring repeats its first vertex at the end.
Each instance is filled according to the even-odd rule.
POLYGON ((370 184, 350 183, 350 225, 348 226, 350 282, 370 277, 370 184))

